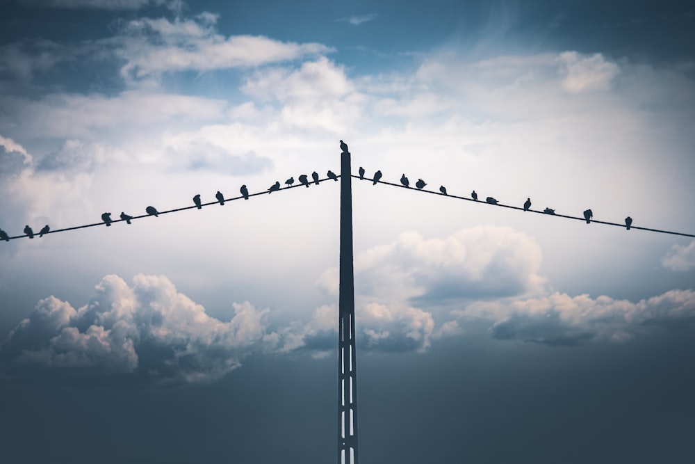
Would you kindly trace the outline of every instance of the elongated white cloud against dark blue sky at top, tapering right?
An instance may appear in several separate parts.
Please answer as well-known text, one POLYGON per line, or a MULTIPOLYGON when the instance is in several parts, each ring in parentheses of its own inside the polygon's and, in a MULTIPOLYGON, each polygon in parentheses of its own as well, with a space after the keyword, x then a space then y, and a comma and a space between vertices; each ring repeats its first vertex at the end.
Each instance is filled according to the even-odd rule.
POLYGON ((163 72, 211 71, 255 67, 326 54, 318 43, 281 42, 261 35, 225 38, 215 32, 217 16, 202 13, 193 19, 133 19, 122 35, 104 42, 126 62, 121 75, 130 81, 156 77, 163 72))

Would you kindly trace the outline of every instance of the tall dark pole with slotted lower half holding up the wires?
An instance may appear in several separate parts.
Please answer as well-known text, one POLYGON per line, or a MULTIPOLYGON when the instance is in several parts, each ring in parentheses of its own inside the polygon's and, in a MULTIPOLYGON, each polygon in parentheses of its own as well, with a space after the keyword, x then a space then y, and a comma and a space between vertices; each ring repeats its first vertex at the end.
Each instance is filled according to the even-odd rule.
POLYGON ((358 464, 357 365, 354 351, 350 152, 341 154, 341 258, 338 296, 338 464, 358 464))

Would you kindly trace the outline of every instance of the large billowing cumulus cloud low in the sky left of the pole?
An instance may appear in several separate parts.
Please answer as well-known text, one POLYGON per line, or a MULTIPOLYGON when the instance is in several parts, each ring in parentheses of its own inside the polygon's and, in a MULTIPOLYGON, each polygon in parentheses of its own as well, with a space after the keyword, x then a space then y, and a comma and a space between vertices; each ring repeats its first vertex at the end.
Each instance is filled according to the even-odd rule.
POLYGON ((95 296, 79 309, 54 296, 40 301, 10 333, 3 358, 17 370, 44 367, 208 383, 272 342, 268 310, 234 303, 234 317, 220 321, 163 276, 136 275, 128 285, 107 275, 95 288, 95 296))

